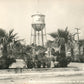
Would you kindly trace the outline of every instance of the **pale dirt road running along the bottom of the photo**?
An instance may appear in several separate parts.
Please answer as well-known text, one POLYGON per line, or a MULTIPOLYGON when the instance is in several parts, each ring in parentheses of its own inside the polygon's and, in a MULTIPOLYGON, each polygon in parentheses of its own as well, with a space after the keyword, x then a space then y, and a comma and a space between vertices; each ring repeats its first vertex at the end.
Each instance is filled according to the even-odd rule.
POLYGON ((0 84, 84 84, 84 71, 4 75, 0 77, 0 84))

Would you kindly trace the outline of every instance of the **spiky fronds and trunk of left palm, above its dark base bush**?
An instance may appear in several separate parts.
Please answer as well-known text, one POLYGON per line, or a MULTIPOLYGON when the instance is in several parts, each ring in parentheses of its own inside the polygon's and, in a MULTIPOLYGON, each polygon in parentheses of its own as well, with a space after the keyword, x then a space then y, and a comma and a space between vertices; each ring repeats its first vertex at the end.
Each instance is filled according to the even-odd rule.
POLYGON ((15 37, 17 35, 17 33, 13 34, 13 29, 9 31, 9 33, 6 33, 5 36, 3 37, 2 39, 2 45, 3 45, 3 50, 2 50, 2 53, 3 53, 3 57, 7 58, 8 56, 8 46, 10 47, 11 46, 11 43, 14 42, 15 40, 15 37))

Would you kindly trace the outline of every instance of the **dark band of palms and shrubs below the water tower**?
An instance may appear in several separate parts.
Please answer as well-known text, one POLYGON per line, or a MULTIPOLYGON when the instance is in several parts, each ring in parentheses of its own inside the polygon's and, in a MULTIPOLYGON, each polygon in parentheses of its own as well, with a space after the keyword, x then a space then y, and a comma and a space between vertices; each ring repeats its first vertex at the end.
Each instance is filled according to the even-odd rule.
MULTIPOLYGON (((51 33, 50 36, 54 40, 47 41, 45 47, 22 44, 21 41, 23 40, 16 39, 16 36, 17 33, 14 33, 13 29, 8 33, 0 29, 0 49, 2 51, 0 69, 9 68, 13 62, 16 62, 16 59, 23 59, 27 68, 50 68, 51 61, 53 61, 54 67, 67 67, 72 61, 74 55, 73 38, 67 28, 65 30, 58 29, 57 32, 51 33), (71 50, 71 57, 66 56, 67 46, 71 50), (49 52, 46 54, 47 50, 49 52)), ((79 45, 81 47, 82 42, 79 45)), ((84 61, 82 57, 79 59, 84 61)))

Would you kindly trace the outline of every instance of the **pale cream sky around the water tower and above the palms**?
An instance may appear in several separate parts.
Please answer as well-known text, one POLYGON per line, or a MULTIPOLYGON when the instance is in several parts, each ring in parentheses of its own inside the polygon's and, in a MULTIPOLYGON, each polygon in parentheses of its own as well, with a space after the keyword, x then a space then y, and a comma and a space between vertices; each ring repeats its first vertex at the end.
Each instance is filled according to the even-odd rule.
POLYGON ((68 26, 71 33, 80 28, 80 38, 84 38, 84 0, 0 0, 0 28, 14 29, 29 44, 31 16, 37 11, 45 15, 47 33, 68 26))

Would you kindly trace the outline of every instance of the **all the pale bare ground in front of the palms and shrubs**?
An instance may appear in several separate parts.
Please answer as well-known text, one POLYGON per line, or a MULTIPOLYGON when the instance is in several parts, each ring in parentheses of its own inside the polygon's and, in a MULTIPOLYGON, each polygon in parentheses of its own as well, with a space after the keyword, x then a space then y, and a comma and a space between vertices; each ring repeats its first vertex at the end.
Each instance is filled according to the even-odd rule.
POLYGON ((68 68, 0 70, 0 84, 84 84, 84 64, 68 68))

